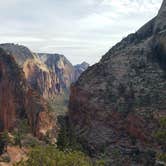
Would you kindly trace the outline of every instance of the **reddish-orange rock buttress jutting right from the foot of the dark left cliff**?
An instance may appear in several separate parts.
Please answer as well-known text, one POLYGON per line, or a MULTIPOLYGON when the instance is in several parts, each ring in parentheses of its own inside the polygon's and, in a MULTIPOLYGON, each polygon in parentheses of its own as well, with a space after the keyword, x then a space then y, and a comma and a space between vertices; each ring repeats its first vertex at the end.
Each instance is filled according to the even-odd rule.
POLYGON ((48 133, 57 136, 56 116, 48 111, 46 100, 32 89, 26 95, 26 112, 35 136, 39 139, 48 133))

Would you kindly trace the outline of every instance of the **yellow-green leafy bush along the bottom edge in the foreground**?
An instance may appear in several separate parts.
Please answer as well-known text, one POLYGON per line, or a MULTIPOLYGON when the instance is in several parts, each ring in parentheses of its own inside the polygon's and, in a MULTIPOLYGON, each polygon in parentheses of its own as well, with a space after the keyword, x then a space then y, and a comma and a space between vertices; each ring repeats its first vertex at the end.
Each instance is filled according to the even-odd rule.
POLYGON ((35 147, 26 161, 15 166, 104 166, 103 162, 94 164, 89 157, 79 151, 60 151, 53 146, 35 147))

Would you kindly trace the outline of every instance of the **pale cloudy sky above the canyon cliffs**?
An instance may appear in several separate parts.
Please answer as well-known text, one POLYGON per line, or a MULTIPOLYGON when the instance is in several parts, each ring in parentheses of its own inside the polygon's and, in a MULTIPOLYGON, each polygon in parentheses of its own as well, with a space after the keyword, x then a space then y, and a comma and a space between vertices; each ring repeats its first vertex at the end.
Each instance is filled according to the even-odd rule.
POLYGON ((0 0, 0 43, 98 62, 156 16, 162 0, 0 0))

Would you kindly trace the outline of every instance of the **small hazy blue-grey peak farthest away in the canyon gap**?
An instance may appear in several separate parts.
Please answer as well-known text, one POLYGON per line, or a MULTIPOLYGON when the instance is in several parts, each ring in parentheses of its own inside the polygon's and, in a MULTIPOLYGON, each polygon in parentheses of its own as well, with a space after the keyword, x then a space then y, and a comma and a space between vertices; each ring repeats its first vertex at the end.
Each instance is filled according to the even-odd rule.
POLYGON ((75 65, 75 79, 77 80, 79 78, 79 76, 85 71, 87 70, 89 67, 89 64, 86 62, 82 62, 81 64, 75 65))

